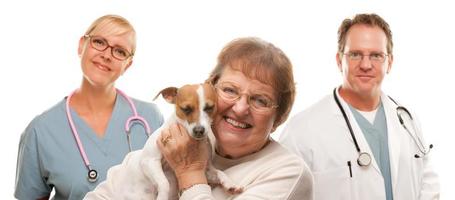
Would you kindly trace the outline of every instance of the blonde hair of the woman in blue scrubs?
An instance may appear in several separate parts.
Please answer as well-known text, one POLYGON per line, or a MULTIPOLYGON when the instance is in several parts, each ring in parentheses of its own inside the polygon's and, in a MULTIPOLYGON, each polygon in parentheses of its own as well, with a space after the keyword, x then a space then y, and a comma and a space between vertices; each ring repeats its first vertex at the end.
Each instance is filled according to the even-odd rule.
POLYGON ((87 29, 85 35, 96 35, 100 32, 109 35, 122 35, 131 33, 131 53, 136 52, 136 31, 133 25, 119 15, 104 15, 96 19, 87 29))

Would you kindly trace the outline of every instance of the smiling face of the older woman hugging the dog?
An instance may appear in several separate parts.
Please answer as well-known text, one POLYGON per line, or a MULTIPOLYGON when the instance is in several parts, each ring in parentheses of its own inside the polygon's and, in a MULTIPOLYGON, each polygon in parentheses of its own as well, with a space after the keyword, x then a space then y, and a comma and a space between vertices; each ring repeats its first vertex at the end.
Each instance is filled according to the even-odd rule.
POLYGON ((259 151, 269 140, 276 119, 276 109, 257 112, 248 103, 249 96, 267 95, 276 100, 274 89, 258 80, 248 78, 241 71, 226 67, 217 83, 236 84, 241 97, 226 101, 218 95, 218 113, 213 121, 220 155, 238 158, 259 151))

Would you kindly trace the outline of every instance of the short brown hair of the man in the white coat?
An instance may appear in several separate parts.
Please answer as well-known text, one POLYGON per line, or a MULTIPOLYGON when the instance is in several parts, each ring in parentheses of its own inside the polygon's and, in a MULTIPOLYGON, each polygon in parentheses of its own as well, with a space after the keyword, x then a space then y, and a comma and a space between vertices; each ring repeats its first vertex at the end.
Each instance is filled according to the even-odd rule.
POLYGON ((338 28, 338 53, 344 53, 347 33, 349 29, 356 24, 377 26, 382 29, 387 36, 387 54, 393 53, 392 31, 390 30, 389 24, 379 15, 374 13, 357 14, 353 19, 347 18, 343 20, 338 28))

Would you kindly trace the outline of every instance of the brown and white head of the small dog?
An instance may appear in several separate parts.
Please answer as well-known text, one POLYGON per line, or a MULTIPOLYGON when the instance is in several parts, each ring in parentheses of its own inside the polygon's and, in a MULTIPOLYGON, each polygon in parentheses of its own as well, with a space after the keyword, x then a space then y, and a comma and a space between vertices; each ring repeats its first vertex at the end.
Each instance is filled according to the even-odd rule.
POLYGON ((168 87, 155 97, 175 104, 175 115, 194 139, 207 137, 213 117, 216 114, 217 95, 215 88, 208 84, 184 85, 181 88, 168 87))

